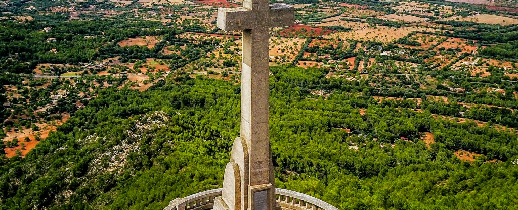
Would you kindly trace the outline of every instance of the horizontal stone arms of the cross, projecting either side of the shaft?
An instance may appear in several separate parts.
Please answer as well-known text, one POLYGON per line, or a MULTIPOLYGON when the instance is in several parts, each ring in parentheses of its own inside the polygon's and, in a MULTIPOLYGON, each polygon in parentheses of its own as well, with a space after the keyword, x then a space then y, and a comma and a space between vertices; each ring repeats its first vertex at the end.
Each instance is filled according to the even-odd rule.
MULTIPOLYGON (((257 22, 254 10, 235 7, 218 9, 218 28, 225 32, 253 29, 255 25, 265 23, 257 22)), ((285 4, 270 5, 268 27, 292 26, 295 22, 295 8, 285 4)))

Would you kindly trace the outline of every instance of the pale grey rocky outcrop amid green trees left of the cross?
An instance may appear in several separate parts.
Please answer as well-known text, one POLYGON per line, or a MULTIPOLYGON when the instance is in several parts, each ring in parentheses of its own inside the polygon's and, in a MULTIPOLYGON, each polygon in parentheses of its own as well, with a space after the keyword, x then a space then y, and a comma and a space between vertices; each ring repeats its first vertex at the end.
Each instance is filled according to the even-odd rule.
MULTIPOLYGON (((135 166, 128 157, 132 154, 140 155, 142 139, 154 138, 156 129, 166 126, 169 120, 170 117, 165 112, 153 112, 135 119, 131 129, 124 131, 125 138, 122 141, 113 141, 113 137, 99 136, 97 133, 78 140, 77 143, 82 148, 96 147, 93 153, 89 154, 93 157, 82 165, 70 162, 69 167, 65 168, 67 177, 64 181, 68 185, 72 182, 80 183, 80 187, 100 185, 109 191, 111 186, 117 185, 116 182, 122 174, 135 173, 135 166), (77 172, 78 170, 82 172, 77 172)), ((57 148, 54 155, 65 153, 67 147, 65 144, 57 148)), ((75 190, 68 187, 56 196, 54 204, 70 202, 69 198, 74 194, 75 190)), ((99 209, 102 208, 99 206, 99 209)))

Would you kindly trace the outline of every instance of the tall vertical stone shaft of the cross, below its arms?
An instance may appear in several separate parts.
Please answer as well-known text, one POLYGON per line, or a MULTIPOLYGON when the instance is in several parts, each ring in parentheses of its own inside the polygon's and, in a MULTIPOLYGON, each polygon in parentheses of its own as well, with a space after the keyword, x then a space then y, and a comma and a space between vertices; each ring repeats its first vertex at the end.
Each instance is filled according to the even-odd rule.
POLYGON ((243 31, 241 138, 250 155, 250 185, 269 183, 268 28, 243 31))

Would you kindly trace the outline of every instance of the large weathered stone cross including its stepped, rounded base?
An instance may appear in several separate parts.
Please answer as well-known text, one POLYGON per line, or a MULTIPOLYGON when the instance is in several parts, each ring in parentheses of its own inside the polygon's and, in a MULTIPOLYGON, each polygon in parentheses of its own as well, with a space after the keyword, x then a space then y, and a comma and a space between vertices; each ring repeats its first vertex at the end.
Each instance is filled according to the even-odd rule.
POLYGON ((243 32, 241 137, 225 169, 222 197, 214 209, 275 208, 275 178, 268 140, 269 28, 292 26, 295 8, 268 0, 244 0, 243 7, 219 8, 218 27, 243 32))

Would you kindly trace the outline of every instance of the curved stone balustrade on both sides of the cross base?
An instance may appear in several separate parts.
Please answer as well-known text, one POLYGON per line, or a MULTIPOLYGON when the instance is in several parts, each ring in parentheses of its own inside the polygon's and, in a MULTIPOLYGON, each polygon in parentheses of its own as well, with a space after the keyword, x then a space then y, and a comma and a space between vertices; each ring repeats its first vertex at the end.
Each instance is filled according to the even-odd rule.
MULTIPOLYGON (((191 196, 175 199, 164 208, 164 210, 206 210, 212 209, 214 199, 221 196, 222 189, 207 190, 192 194, 191 196)), ((283 209, 293 210, 338 210, 338 208, 329 205, 319 199, 313 198, 306 194, 285 189, 275 189, 277 203, 283 209)))

